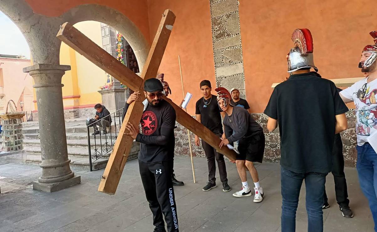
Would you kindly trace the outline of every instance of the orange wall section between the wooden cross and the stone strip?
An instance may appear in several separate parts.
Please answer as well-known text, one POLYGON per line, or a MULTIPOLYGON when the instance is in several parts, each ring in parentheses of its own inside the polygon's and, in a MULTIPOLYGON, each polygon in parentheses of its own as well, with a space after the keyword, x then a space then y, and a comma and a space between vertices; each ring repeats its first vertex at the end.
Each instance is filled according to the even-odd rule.
MULTIPOLYGON (((169 98, 176 104, 181 103, 182 85, 178 55, 181 56, 184 90, 193 94, 187 110, 190 115, 195 115, 195 102, 202 96, 199 88, 200 81, 208 79, 213 87, 216 86, 209 2, 148 0, 151 41, 156 34, 161 13, 167 8, 171 9, 177 17, 159 73, 165 74, 164 78, 172 89, 173 94, 169 95, 169 98)), ((212 93, 216 94, 214 89, 212 93)))

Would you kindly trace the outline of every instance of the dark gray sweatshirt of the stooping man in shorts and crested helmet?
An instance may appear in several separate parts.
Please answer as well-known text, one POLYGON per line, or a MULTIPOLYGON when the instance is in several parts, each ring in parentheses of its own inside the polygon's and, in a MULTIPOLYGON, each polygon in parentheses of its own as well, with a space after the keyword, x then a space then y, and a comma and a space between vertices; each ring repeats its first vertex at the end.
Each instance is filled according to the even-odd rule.
POLYGON ((227 137, 230 143, 236 142, 242 137, 251 137, 263 131, 261 125, 242 107, 233 107, 233 112, 230 116, 225 114, 223 124, 225 127, 225 137, 227 137))

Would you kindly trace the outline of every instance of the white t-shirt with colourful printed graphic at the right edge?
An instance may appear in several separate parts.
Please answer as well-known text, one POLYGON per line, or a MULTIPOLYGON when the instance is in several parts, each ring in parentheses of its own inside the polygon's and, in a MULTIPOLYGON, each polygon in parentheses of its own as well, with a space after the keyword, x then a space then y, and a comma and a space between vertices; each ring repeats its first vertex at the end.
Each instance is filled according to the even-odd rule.
POLYGON ((377 79, 367 83, 364 78, 340 92, 356 106, 357 145, 377 139, 377 79))

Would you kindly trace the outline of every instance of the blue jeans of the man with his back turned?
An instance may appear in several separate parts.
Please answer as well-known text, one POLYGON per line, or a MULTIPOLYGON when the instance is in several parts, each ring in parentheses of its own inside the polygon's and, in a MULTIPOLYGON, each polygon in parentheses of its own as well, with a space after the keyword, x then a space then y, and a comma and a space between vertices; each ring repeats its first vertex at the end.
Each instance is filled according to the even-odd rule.
POLYGON ((302 181, 305 180, 308 231, 323 231, 323 191, 327 173, 296 173, 281 167, 281 192, 283 198, 282 232, 296 230, 296 210, 299 204, 302 181))

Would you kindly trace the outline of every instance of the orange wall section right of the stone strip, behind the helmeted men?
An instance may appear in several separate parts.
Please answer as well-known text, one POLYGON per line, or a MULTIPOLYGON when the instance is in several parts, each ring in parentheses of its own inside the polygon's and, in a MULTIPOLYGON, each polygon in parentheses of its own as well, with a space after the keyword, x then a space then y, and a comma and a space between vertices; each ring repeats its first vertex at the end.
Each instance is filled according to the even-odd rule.
POLYGON ((273 82, 287 73, 286 55, 296 28, 310 29, 314 63, 323 78, 360 77, 361 51, 373 42, 375 10, 366 0, 239 0, 247 100, 253 112, 264 111, 273 82))

